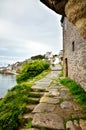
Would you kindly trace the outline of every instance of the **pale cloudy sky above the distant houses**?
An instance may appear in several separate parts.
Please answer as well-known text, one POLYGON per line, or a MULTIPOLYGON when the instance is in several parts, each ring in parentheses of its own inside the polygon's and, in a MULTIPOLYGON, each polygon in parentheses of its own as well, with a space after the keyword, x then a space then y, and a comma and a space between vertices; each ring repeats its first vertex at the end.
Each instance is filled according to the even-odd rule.
POLYGON ((61 29, 60 16, 39 0, 0 0, 0 57, 58 54, 61 29))

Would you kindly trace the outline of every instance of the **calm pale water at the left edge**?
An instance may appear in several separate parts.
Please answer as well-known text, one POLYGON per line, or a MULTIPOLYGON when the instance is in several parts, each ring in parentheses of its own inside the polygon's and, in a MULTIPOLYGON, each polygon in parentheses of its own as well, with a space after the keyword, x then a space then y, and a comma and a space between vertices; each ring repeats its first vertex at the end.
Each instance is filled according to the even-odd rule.
POLYGON ((16 76, 0 74, 0 98, 4 97, 8 89, 16 85, 16 76))

